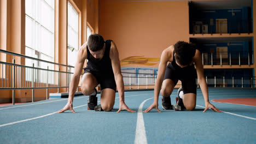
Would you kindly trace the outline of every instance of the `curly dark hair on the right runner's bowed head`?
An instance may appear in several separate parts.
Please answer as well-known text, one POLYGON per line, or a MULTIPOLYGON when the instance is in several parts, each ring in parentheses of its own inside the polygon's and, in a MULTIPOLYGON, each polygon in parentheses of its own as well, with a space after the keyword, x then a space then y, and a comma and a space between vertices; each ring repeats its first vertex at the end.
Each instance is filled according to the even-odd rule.
POLYGON ((179 64, 183 66, 189 65, 193 61, 195 51, 195 44, 189 44, 184 41, 178 41, 174 45, 174 52, 176 53, 175 59, 179 64))

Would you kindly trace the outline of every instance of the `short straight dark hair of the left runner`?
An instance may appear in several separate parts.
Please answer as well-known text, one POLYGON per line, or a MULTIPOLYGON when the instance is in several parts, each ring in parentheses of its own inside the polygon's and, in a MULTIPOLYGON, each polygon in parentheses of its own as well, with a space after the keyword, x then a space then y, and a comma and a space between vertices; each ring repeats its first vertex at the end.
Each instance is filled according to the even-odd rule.
POLYGON ((103 49, 104 43, 104 39, 100 34, 91 34, 87 41, 87 45, 91 51, 103 49))

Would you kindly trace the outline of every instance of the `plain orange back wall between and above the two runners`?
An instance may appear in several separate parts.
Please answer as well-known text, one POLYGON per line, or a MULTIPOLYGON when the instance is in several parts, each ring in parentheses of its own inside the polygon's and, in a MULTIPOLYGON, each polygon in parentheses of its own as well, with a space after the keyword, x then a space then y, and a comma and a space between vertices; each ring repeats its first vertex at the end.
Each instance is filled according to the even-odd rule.
POLYGON ((188 1, 100 1, 99 5, 99 33, 115 41, 120 60, 160 58, 161 52, 178 40, 189 41, 188 1))

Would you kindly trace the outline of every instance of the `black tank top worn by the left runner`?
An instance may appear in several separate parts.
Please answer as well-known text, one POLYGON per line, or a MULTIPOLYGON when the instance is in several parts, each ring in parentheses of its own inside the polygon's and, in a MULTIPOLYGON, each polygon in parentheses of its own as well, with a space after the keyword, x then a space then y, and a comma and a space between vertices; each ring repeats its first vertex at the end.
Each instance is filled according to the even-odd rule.
POLYGON ((111 59, 109 57, 111 41, 112 40, 105 40, 105 44, 106 44, 105 52, 100 61, 95 61, 88 47, 86 47, 88 62, 87 62, 87 67, 84 69, 90 69, 92 71, 95 71, 96 73, 114 74, 112 69, 111 59))

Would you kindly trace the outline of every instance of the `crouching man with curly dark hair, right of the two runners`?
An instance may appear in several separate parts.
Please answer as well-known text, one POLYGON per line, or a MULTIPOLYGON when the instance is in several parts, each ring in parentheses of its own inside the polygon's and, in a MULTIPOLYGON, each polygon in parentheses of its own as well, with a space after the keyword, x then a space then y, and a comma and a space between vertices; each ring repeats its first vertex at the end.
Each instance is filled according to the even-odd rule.
POLYGON ((203 75, 202 57, 199 50, 193 44, 178 41, 162 52, 159 64, 158 77, 154 88, 154 103, 144 112, 156 109, 158 112, 158 98, 161 89, 162 109, 192 111, 196 106, 196 80, 197 79, 205 99, 205 112, 207 109, 221 112, 214 107, 208 99, 208 88, 203 75), (170 62, 168 65, 167 63, 170 62), (167 67, 166 67, 167 65, 167 67), (196 67, 196 70, 195 70, 196 67), (176 107, 171 105, 170 95, 178 80, 182 82, 182 88, 178 90, 178 101, 176 107), (161 88, 162 86, 162 88, 161 88))

